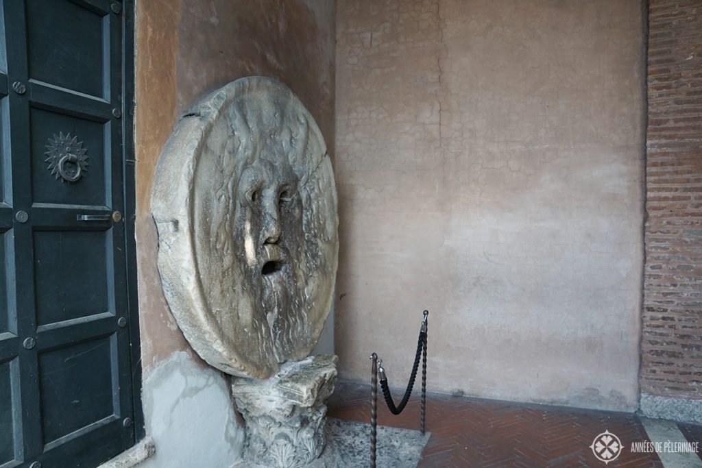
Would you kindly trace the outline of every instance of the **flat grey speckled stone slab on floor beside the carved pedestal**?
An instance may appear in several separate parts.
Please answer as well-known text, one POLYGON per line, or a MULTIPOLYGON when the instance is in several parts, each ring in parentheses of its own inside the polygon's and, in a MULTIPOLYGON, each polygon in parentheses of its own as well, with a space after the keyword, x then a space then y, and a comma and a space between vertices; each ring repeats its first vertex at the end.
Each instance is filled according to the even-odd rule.
MULTIPOLYGON (((363 422, 326 418, 326 446, 322 455, 310 463, 310 468, 359 468, 371 463, 371 425, 363 422)), ((415 468, 430 433, 397 427, 378 426, 376 466, 415 468)), ((233 468, 264 468, 241 461, 233 468)))

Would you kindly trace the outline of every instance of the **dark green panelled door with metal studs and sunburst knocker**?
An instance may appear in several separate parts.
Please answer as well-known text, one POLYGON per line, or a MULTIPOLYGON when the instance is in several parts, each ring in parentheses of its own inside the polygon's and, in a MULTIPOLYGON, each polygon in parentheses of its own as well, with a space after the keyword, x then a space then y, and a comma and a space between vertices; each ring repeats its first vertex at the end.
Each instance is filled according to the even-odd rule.
POLYGON ((123 12, 0 5, 0 468, 95 467, 134 443, 123 12))

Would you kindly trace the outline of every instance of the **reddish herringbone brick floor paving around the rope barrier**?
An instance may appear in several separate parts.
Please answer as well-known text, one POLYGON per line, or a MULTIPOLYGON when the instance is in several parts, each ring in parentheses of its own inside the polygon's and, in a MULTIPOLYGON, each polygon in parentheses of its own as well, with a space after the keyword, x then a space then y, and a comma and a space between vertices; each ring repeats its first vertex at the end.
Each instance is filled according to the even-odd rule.
MULTIPOLYGON (((339 382, 329 415, 369 422, 370 386, 339 382)), ((378 424, 418 429, 417 391, 401 415, 392 415, 378 394, 378 424)), ((393 393, 396 399, 401 392, 393 393)), ((662 467, 656 453, 631 453, 649 440, 636 415, 429 394, 427 430, 432 436, 419 467, 662 467), (624 446, 605 465, 590 444, 607 429, 624 446)), ((370 447, 370 446, 369 446, 370 447)), ((386 468, 386 467, 378 467, 386 468)))

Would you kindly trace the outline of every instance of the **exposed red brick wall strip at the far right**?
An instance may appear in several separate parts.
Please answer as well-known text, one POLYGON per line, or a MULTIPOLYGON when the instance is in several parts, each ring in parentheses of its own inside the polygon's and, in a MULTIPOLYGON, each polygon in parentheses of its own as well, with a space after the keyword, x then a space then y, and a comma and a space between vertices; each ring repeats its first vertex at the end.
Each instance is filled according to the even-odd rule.
POLYGON ((650 0, 641 392, 702 399, 702 1, 650 0))

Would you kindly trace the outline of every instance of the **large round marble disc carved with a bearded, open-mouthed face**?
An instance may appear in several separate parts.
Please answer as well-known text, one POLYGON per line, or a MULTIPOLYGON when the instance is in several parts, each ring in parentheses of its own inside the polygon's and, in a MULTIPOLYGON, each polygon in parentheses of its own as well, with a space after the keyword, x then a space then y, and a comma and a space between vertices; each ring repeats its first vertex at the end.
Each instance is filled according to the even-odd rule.
POLYGON ((265 378, 312 351, 336 276, 336 187, 319 128, 289 89, 239 79, 181 119, 152 214, 166 300, 203 359, 265 378))

